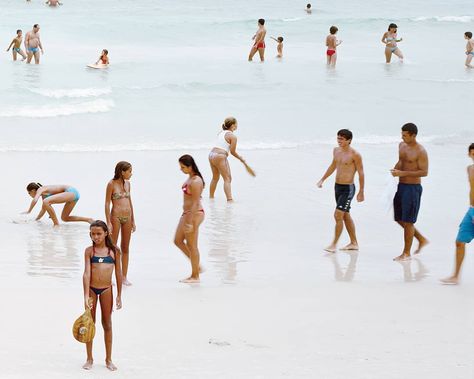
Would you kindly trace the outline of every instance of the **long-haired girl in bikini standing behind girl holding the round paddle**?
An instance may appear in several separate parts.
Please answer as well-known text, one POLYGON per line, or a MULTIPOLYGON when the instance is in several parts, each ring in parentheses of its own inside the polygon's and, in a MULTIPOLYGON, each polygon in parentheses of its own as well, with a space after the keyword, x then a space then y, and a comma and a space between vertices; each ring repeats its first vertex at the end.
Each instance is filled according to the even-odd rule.
POLYGON ((130 195, 130 178, 132 177, 132 165, 121 161, 115 166, 113 179, 107 183, 105 194, 105 219, 112 241, 118 242, 119 234, 120 250, 122 251, 122 283, 131 286, 128 281, 128 262, 130 250, 130 238, 136 230, 135 217, 133 214, 132 197, 130 195), (112 210, 110 209, 112 203, 112 210))

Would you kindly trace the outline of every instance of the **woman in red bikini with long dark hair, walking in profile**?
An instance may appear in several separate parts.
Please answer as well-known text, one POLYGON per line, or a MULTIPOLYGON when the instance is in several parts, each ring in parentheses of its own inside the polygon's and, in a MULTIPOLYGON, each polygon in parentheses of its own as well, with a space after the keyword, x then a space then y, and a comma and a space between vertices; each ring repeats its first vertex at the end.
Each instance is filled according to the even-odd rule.
POLYGON ((180 280, 182 283, 199 283, 199 226, 204 221, 204 209, 201 204, 204 179, 190 155, 179 158, 181 171, 188 175, 188 179, 181 187, 183 191, 183 214, 179 220, 174 237, 175 245, 191 261, 191 276, 180 280), (186 242, 185 242, 186 241, 186 242))

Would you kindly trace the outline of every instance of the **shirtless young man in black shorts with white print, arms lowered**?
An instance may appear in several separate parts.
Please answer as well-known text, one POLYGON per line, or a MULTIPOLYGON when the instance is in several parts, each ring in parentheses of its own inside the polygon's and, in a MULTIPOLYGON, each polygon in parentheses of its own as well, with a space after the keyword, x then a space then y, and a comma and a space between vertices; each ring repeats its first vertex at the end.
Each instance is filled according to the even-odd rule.
POLYGON ((361 155, 351 147, 352 132, 347 129, 341 129, 337 132, 337 143, 339 147, 334 148, 333 160, 326 170, 326 173, 318 182, 317 186, 321 188, 323 182, 336 171, 336 184, 334 191, 336 193, 336 211, 334 219, 336 220, 336 229, 334 232, 334 240, 324 250, 335 253, 337 250, 337 242, 341 236, 344 225, 351 242, 341 250, 359 250, 359 244, 355 233, 354 221, 351 218, 349 210, 351 209, 351 201, 355 195, 354 176, 359 174, 359 193, 357 201, 364 201, 364 167, 362 165, 361 155))

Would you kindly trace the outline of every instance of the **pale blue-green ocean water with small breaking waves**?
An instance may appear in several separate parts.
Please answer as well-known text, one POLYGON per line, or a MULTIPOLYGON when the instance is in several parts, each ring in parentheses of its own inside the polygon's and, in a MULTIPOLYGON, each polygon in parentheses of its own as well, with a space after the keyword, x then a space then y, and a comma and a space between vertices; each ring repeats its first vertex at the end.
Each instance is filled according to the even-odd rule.
POLYGON ((425 141, 472 139, 474 70, 463 67, 472 1, 1 0, 0 36, 41 26, 40 66, 0 68, 0 151, 123 151, 208 148, 222 120, 240 122, 246 149, 332 143, 339 128, 355 141, 398 140, 408 121, 425 141), (87 12, 85 11, 87 10, 87 12), (247 62, 256 20, 283 36, 284 59, 267 40, 267 61, 247 62), (384 63, 380 38, 399 26, 405 63, 384 63), (331 25, 343 44, 325 67, 331 25), (101 49, 107 70, 91 70, 101 49))

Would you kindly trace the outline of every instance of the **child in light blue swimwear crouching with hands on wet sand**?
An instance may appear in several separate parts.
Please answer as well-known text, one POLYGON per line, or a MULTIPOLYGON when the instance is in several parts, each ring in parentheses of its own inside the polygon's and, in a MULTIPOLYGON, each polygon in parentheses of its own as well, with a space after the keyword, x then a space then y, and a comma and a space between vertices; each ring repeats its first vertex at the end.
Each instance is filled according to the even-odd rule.
POLYGON ((54 226, 59 226, 56 212, 54 212, 52 207, 53 204, 64 204, 64 208, 61 213, 61 220, 64 222, 82 221, 88 222, 90 224, 92 221, 94 221, 94 219, 89 217, 71 216, 72 210, 81 197, 79 191, 72 186, 63 184, 43 186, 40 183, 30 183, 26 186, 26 190, 28 195, 30 195, 33 200, 31 201, 30 208, 24 213, 31 213, 38 200, 40 198, 43 200, 43 206, 41 207, 40 213, 36 217, 36 221, 39 221, 45 213, 48 213, 49 217, 53 221, 54 226))

